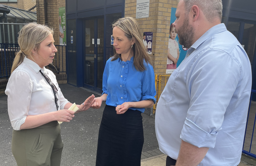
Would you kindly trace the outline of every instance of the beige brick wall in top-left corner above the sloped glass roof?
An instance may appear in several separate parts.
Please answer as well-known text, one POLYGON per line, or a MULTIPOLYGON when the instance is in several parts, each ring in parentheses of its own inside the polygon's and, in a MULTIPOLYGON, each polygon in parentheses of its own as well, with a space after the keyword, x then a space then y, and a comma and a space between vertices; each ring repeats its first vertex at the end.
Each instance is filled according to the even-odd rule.
MULTIPOLYGON (((32 7, 35 6, 36 0, 17 0, 17 3, 0 3, 1 5, 7 5, 12 7, 17 7, 19 9, 29 10, 32 7)), ((34 8, 31 11, 36 11, 36 8, 34 8)))

